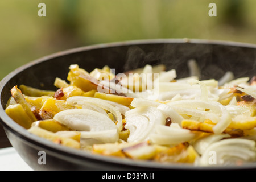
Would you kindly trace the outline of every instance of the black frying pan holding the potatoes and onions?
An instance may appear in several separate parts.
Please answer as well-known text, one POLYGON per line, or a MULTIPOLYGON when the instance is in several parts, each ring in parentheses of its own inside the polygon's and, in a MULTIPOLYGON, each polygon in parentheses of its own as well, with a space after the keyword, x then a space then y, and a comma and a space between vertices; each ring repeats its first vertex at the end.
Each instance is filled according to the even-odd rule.
POLYGON ((30 134, 5 113, 5 105, 14 85, 24 84, 44 90, 56 90, 56 77, 66 80, 69 65, 92 71, 109 65, 115 73, 164 64, 176 69, 177 77, 189 76, 187 61, 194 59, 201 70, 201 79, 220 79, 232 71, 236 78, 253 77, 256 71, 256 45, 237 42, 197 39, 153 39, 97 44, 69 49, 15 69, 0 82, 0 117, 6 135, 23 160, 35 170, 236 170, 256 169, 256 163, 242 166, 195 167, 189 164, 160 164, 88 154, 60 146, 30 134), (40 151, 46 164, 39 163, 40 151))

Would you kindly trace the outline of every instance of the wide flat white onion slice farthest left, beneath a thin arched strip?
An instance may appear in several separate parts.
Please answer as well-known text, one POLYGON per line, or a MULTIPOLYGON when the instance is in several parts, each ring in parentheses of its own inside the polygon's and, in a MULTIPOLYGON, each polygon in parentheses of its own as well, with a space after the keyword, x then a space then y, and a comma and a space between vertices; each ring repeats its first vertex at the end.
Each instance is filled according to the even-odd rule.
POLYGON ((56 121, 73 130, 84 131, 81 138, 96 138, 101 142, 117 142, 115 123, 106 115, 90 109, 68 109, 55 114, 56 121), (86 135, 85 135, 86 134, 86 135))

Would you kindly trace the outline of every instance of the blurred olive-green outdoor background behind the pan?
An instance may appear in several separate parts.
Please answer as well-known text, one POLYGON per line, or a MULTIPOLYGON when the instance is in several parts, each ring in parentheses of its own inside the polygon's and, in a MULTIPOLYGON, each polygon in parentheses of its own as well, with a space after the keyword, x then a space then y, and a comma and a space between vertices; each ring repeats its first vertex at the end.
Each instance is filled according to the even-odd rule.
POLYGON ((0 79, 69 48, 138 39, 256 44, 255 0, 1 0, 0 79), (39 3, 46 17, 39 17, 39 3), (209 3, 217 17, 210 17, 209 3))

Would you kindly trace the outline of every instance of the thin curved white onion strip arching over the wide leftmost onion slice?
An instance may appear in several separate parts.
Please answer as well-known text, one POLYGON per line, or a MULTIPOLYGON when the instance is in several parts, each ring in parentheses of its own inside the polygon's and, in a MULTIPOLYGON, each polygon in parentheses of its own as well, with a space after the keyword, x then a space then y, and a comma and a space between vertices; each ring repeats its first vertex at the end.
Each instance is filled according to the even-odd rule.
POLYGON ((102 109, 108 110, 110 113, 114 115, 115 118, 117 118, 117 130, 121 131, 122 130, 122 115, 120 111, 106 102, 105 100, 102 100, 100 98, 94 98, 94 97, 83 97, 83 96, 73 96, 67 98, 67 102, 70 103, 76 103, 78 105, 83 105, 84 103, 90 103, 97 105, 101 107, 102 109))

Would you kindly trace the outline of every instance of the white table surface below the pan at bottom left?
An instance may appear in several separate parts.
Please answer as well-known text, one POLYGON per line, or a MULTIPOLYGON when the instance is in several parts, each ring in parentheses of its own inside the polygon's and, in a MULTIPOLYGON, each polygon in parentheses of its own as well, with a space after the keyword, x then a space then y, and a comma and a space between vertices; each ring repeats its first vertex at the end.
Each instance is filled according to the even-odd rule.
POLYGON ((0 171, 32 171, 13 147, 0 149, 0 171))

